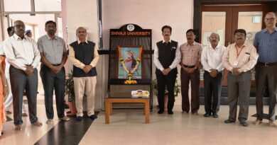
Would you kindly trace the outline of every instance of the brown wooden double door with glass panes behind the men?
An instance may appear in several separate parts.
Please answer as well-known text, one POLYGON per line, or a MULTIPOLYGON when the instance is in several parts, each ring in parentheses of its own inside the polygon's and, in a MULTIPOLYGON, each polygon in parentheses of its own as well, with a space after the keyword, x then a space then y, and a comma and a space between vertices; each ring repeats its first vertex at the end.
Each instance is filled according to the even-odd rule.
MULTIPOLYGON (((202 6, 201 43, 209 45, 210 33, 218 33, 219 44, 234 43, 234 30, 246 30, 246 41, 253 43, 254 37, 264 25, 264 16, 268 12, 267 5, 222 5, 202 6)), ((254 71, 252 71, 252 86, 255 86, 254 71)), ((222 86, 227 86, 227 71, 224 70, 222 86)), ((202 76, 202 75, 201 75, 202 76)), ((201 80, 202 77, 201 77, 201 80)))

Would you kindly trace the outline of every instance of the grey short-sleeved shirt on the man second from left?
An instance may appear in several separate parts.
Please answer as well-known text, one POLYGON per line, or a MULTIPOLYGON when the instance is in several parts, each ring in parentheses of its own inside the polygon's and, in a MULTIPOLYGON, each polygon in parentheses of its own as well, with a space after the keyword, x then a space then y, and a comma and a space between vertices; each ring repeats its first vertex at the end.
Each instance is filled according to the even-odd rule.
POLYGON ((51 38, 48 35, 38 38, 38 50, 44 54, 50 64, 60 64, 63 53, 67 52, 63 38, 58 36, 51 38))

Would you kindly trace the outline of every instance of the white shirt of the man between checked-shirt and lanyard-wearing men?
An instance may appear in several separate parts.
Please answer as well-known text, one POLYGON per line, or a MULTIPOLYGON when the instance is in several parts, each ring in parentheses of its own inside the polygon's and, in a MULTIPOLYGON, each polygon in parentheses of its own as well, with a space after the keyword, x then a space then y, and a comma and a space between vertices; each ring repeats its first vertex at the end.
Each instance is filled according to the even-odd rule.
POLYGON ((208 45, 203 48, 201 54, 201 64, 205 71, 210 69, 217 69, 217 71, 222 71, 224 66, 222 65, 222 56, 226 47, 223 45, 217 45, 217 47, 212 48, 212 45, 208 45))

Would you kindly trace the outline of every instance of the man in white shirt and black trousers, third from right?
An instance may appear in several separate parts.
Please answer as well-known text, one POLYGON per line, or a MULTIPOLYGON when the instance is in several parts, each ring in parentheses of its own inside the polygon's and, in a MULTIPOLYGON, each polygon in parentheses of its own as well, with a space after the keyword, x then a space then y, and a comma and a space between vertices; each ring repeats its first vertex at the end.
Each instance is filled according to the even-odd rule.
POLYGON ((202 50, 201 63, 204 72, 204 90, 205 90, 205 117, 217 118, 219 111, 221 84, 222 84, 222 55, 226 49, 219 45, 219 35, 212 33, 210 35, 210 45, 202 50), (212 101, 213 100, 213 101, 212 101))

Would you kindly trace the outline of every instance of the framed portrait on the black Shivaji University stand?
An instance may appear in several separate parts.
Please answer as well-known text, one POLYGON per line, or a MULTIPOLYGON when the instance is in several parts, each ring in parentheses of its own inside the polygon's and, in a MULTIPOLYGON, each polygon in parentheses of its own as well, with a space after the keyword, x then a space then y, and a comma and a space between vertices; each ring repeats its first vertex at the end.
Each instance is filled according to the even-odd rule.
POLYGON ((117 79, 143 79, 142 46, 117 46, 117 79))

